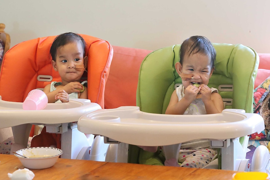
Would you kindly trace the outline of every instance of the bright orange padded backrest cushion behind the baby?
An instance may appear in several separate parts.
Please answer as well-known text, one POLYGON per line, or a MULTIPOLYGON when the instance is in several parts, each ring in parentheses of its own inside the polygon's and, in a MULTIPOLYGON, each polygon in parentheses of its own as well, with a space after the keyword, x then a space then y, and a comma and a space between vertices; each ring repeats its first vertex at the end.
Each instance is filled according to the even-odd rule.
MULTIPOLYGON (((104 108, 104 91, 112 61, 112 46, 105 40, 80 34, 86 41, 88 56, 88 99, 104 108)), ((56 36, 24 41, 9 49, 0 71, 2 100, 23 102, 29 91, 44 88, 61 78, 51 64, 49 49, 56 36), (46 76, 52 76, 46 81, 46 76), (40 78, 41 77, 41 78, 40 78), (39 79, 39 80, 38 80, 39 79)))

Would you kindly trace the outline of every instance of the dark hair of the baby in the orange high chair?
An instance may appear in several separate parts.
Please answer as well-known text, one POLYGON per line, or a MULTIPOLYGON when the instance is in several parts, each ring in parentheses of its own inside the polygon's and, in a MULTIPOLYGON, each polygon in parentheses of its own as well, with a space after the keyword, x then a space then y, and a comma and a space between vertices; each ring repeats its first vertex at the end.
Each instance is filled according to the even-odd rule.
POLYGON ((63 34, 58 35, 55 38, 51 46, 50 55, 51 55, 52 60, 55 61, 56 52, 58 48, 65 46, 66 44, 69 44, 74 41, 77 41, 81 44, 82 49, 83 49, 83 56, 85 56, 85 49, 86 49, 85 40, 79 34, 76 34, 76 33, 63 33, 63 34))

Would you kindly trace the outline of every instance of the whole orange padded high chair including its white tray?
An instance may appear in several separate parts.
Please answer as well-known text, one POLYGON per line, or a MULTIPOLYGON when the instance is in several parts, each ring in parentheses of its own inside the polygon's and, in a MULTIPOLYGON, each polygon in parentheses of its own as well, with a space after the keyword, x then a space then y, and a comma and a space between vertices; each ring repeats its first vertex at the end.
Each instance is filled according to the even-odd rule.
MULTIPOLYGON (((59 144, 60 142, 57 144, 57 147, 61 147, 64 151, 61 157, 75 159, 79 153, 78 149, 76 149, 77 152, 73 153, 75 150, 70 146, 80 146, 80 142, 78 141, 79 138, 73 138, 72 132, 75 133, 76 131, 77 134, 81 133, 77 131, 77 124, 75 121, 78 121, 79 117, 88 111, 91 112, 104 108, 104 90, 109 75, 113 49, 109 42, 105 40, 89 35, 80 35, 85 39, 87 44, 86 56, 88 56, 88 73, 85 72, 82 79, 88 80, 87 93, 88 99, 91 100, 91 102, 89 100, 81 100, 80 105, 88 104, 89 106, 89 104, 91 104, 91 107, 89 108, 87 106, 88 109, 79 109, 76 111, 78 112, 78 115, 74 116, 75 118, 70 121, 71 123, 62 123, 62 120, 58 121, 59 119, 57 119, 57 117, 50 116, 50 112, 55 110, 56 107, 51 105, 54 103, 49 103, 47 105, 47 107, 51 109, 47 112, 47 107, 44 110, 31 112, 32 116, 36 116, 35 120, 33 118, 33 120, 31 118, 28 120, 24 120, 23 117, 20 118, 20 116, 24 116, 23 114, 25 113, 25 111, 20 111, 22 110, 22 102, 31 90, 43 90, 43 88, 51 83, 51 81, 61 81, 58 72, 53 69, 49 58, 49 49, 56 36, 24 41, 15 45, 5 54, 0 72, 0 96, 2 96, 2 100, 1 97, 0 100, 4 103, 7 103, 7 101, 18 102, 11 104, 14 111, 7 110, 7 112, 14 112, 12 114, 18 113, 18 118, 16 118, 16 120, 14 120, 14 118, 6 119, 3 117, 3 114, 5 113, 0 112, 2 121, 0 123, 0 128, 12 126, 15 143, 21 145, 20 147, 27 147, 32 124, 45 124, 47 132, 58 133, 54 134, 54 136, 59 141, 62 138, 61 144, 59 144), (16 109, 16 107, 18 107, 18 109, 16 109), (44 112, 45 114, 42 114, 44 112), (49 120, 53 120, 53 123, 49 122, 49 124, 46 124, 47 121, 44 122, 45 120, 41 120, 42 118, 47 118, 48 122, 49 120), (68 133, 69 131, 71 131, 71 133, 68 133), (67 141, 69 143, 66 143, 67 141), (67 150, 65 151, 65 149, 67 150)), ((70 100, 70 102, 73 104, 75 103, 72 100, 70 100)), ((79 103, 79 101, 76 103, 79 103)), ((77 105, 76 103, 75 105, 77 105)), ((60 104, 64 105, 65 103, 60 104)), ((59 111, 59 113, 61 115, 67 114, 67 116, 72 116, 70 115, 71 113, 69 114, 68 106, 69 104, 67 104, 66 107, 63 106, 67 111, 59 111)), ((73 106, 71 105, 71 107, 73 106)), ((60 109, 61 108, 62 107, 60 107, 60 109)), ((83 134, 83 136, 85 135, 83 134)))

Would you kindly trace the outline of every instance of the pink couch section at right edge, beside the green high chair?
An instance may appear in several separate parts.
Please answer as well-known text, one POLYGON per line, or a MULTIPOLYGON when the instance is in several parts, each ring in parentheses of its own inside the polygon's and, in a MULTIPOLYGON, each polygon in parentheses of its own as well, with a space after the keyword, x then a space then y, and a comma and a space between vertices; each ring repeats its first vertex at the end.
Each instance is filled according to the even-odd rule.
POLYGON ((254 83, 254 89, 270 76, 270 53, 258 53, 260 58, 259 69, 254 83))

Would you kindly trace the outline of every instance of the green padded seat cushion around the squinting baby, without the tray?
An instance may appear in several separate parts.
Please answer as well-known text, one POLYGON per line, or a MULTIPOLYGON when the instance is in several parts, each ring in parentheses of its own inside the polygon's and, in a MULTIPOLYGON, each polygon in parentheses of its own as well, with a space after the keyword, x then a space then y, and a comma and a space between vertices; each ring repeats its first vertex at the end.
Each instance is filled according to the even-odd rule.
MULTIPOLYGON (((171 94, 182 83, 174 66, 179 62, 180 46, 176 44, 158 49, 143 60, 137 88, 137 106, 140 111, 165 114, 171 94)), ((257 53, 242 44, 213 43, 213 46, 216 50, 216 64, 208 86, 218 89, 226 109, 242 109, 253 113, 254 80, 259 64, 257 53)), ((241 144, 244 140, 247 142, 247 137, 239 138, 241 144)), ((247 147, 247 143, 244 146, 247 147)), ((226 165, 221 167, 221 157, 218 159, 219 168, 224 169, 226 165)), ((129 145, 128 162, 163 165, 164 159, 138 146, 129 145)))

